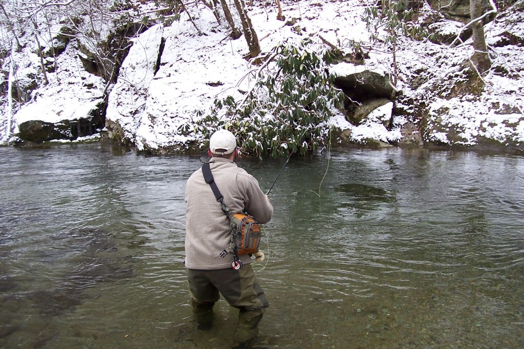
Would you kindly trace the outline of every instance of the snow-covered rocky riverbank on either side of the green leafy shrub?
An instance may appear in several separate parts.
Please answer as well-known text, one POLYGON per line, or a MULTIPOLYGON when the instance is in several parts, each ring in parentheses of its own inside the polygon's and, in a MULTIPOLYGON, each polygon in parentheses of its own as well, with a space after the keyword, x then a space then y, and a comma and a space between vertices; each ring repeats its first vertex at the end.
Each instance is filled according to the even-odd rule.
MULTIPOLYGON (((149 3, 143 6, 154 8, 149 3)), ((305 51, 318 54, 330 46, 338 50, 342 62, 328 70, 345 94, 345 108, 331 109, 333 115, 325 126, 339 129, 343 143, 519 152, 524 149, 522 6, 517 2, 500 10, 485 25, 493 62, 482 76, 468 67, 471 38, 451 46, 444 39, 399 37, 395 55, 383 42, 371 44, 372 33, 363 17, 366 7, 358 1, 282 2, 284 21, 277 19, 277 9, 272 7, 249 7, 249 15, 263 55, 283 43, 309 42, 305 51), (358 47, 361 51, 356 54, 358 47), (394 80, 396 86, 391 85, 394 80), (370 108, 367 114, 364 105, 370 108)), ((430 4, 418 10, 417 23, 438 37, 453 38, 462 30, 462 22, 446 19, 430 4)), ((106 82, 88 72, 81 60, 81 37, 71 38, 53 58, 57 70, 48 72, 47 84, 39 71, 40 59, 32 53, 32 36, 22 37, 26 47, 15 56, 25 68, 18 74, 20 80, 31 78, 34 83, 28 85, 36 87, 28 91, 32 97, 27 103, 15 106, 10 120, 14 134, 5 131, 9 116, 6 100, 2 101, 2 141, 31 141, 35 133, 26 134, 25 129, 45 130, 38 133, 38 140, 48 141, 76 139, 105 127, 111 138, 139 151, 161 154, 202 148, 205 136, 199 121, 210 114, 216 99, 231 95, 240 103, 255 86, 260 65, 245 59, 245 40, 231 40, 229 29, 219 25, 210 10, 195 13, 198 21, 189 20, 186 12, 181 16, 169 24, 148 17, 148 27, 129 41, 132 47, 107 96, 101 94, 106 82), (23 127, 27 122, 34 124, 23 127)), ((383 39, 387 35, 379 33, 383 39)), ((53 42, 47 42, 46 48, 52 48, 53 42)), ((268 70, 278 69, 276 62, 267 63, 268 70)), ((220 120, 224 117, 218 115, 220 120)), ((249 116, 245 121, 254 123, 249 116)), ((239 129, 238 135, 246 138, 248 132, 239 129)), ((282 136, 278 141, 277 146, 282 146, 287 139, 282 136)))

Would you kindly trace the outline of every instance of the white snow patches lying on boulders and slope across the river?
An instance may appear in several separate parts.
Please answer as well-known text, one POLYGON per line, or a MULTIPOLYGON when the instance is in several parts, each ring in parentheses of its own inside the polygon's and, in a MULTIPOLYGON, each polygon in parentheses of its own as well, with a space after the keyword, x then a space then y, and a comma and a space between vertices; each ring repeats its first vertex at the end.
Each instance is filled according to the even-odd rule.
MULTIPOLYGON (((281 42, 311 39, 319 46, 322 41, 328 41, 344 53, 351 53, 352 42, 369 46, 369 33, 361 19, 363 10, 359 0, 282 2, 286 21, 297 18, 296 24, 286 25, 286 21, 277 20, 275 6, 250 8, 249 16, 263 52, 281 42)), ((196 11, 192 13, 195 15, 196 11)), ((487 42, 492 45, 499 42, 508 29, 507 23, 515 33, 524 35, 522 19, 523 15, 515 11, 509 12, 504 20, 489 23, 486 25, 487 42)), ((461 30, 457 22, 441 22, 441 33, 461 30)), ((102 23, 97 25, 101 25, 103 35, 107 35, 108 29, 102 23)), ((194 125, 200 113, 209 111, 215 98, 232 95, 239 100, 255 83, 252 73, 257 67, 243 58, 248 53, 244 37, 231 40, 228 29, 219 25, 204 6, 199 7, 196 25, 205 35, 200 36, 187 13, 182 13, 180 21, 166 27, 156 25, 133 39, 108 100, 107 119, 117 122, 138 149, 177 147, 197 141, 195 134, 184 134, 181 127, 194 125), (155 73, 162 38, 165 48, 155 73)), ((449 49, 430 42, 401 40, 396 58, 400 73, 397 88, 403 92, 404 99, 398 105, 402 105, 413 119, 426 118, 430 122, 453 126, 459 132, 461 144, 475 144, 478 136, 503 142, 508 139, 524 142, 524 77, 521 70, 524 54, 521 48, 512 45, 493 49, 497 53, 494 66, 504 67, 510 74, 490 72, 484 77, 484 93, 469 97, 457 92, 456 86, 460 83, 461 64, 472 52, 471 42, 449 49), (421 83, 414 86, 416 80, 421 83), (435 91, 435 88, 440 90, 435 91), (509 112, 495 114, 496 103, 508 106, 509 112), (419 108, 421 104, 427 105, 427 109, 419 108)), ((101 102, 104 82, 83 69, 78 53, 78 42, 72 40, 65 52, 57 57, 57 72, 48 73, 49 84, 36 89, 30 102, 18 109, 14 116, 16 127, 28 120, 58 122, 85 118, 96 108, 101 102)), ((21 78, 40 74, 36 54, 20 53, 16 61, 21 78)), ((342 62, 331 66, 330 72, 342 76, 372 70, 384 75, 391 74, 391 64, 391 53, 383 48, 369 51, 369 58, 363 65, 342 62)), ((352 125, 341 112, 334 111, 330 122, 342 130, 351 130, 351 140, 355 142, 366 139, 398 141, 400 128, 408 120, 397 117, 394 129, 387 130, 384 125, 391 110, 391 103, 380 107, 359 126, 352 125)), ((1 117, 7 119, 5 110, 1 117)), ((5 130, 0 132, 0 138, 5 139, 5 130)), ((427 137, 450 143, 443 130, 430 130, 427 137)))

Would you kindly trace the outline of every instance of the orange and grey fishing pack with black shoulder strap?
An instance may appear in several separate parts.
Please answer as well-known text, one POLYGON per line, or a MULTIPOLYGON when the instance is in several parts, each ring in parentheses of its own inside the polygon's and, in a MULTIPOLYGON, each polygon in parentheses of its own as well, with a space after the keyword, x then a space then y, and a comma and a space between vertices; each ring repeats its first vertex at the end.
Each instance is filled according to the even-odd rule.
POLYGON ((233 269, 240 269, 242 268, 242 262, 238 255, 254 254, 258 250, 261 237, 260 224, 253 216, 244 215, 244 213, 232 213, 224 204, 224 196, 216 186, 209 163, 205 163, 202 166, 202 173, 204 174, 205 183, 211 186, 216 201, 220 202, 222 212, 230 221, 231 242, 229 247, 220 253, 220 256, 225 257, 228 253, 232 253, 234 261, 231 266, 233 269))

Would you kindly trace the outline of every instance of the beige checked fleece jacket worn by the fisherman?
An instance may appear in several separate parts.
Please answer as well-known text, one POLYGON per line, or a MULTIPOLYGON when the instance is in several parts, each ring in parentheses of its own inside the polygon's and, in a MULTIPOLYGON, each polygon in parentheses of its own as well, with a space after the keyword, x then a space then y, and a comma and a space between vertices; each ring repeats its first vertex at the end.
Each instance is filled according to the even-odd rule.
MULTIPOLYGON (((257 180, 236 163, 213 157, 211 172, 224 203, 233 213, 247 211, 260 223, 269 222, 273 206, 266 200, 257 180)), ((220 253, 231 242, 230 222, 220 209, 202 168, 195 171, 185 185, 185 267, 189 269, 231 268, 233 255, 220 253)), ((250 263, 249 255, 240 256, 250 263)))

